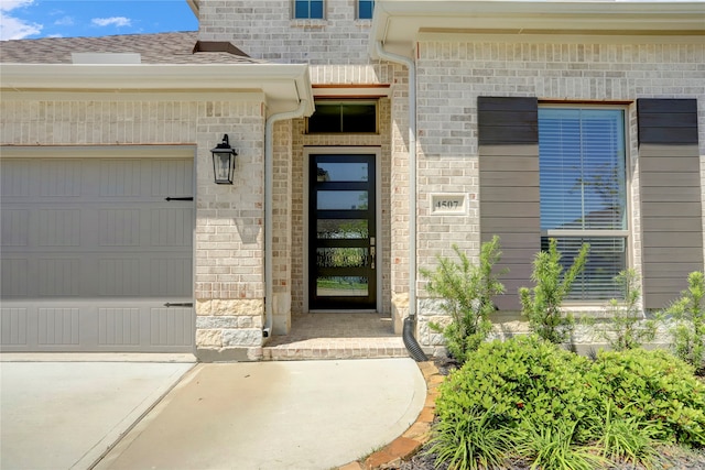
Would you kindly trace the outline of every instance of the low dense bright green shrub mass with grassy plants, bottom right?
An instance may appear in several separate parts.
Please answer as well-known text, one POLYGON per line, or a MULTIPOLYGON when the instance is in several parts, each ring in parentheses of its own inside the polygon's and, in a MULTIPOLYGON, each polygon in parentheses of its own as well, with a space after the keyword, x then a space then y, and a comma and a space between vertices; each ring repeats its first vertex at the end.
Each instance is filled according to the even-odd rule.
POLYGON ((463 469, 516 458, 544 470, 658 468, 661 444, 705 446, 705 383, 693 372, 663 350, 590 361, 535 335, 485 342, 440 386, 432 451, 463 469))

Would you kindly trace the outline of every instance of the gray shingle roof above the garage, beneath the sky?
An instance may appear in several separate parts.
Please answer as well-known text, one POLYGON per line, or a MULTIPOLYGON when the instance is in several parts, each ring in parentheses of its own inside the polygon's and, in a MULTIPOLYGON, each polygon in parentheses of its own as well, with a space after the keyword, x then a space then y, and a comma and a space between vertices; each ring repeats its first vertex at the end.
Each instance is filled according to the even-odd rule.
POLYGON ((248 57, 229 43, 198 43, 196 46, 197 43, 196 31, 2 41, 0 63, 70 64, 72 53, 139 53, 142 64, 267 63, 248 57))

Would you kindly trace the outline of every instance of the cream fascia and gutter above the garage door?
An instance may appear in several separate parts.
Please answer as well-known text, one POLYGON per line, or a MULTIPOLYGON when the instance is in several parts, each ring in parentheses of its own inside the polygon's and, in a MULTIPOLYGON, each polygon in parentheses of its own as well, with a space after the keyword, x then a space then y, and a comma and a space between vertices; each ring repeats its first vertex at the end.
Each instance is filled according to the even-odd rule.
POLYGON ((311 103, 305 64, 0 64, 0 85, 13 91, 208 92, 265 97, 268 113, 311 103))

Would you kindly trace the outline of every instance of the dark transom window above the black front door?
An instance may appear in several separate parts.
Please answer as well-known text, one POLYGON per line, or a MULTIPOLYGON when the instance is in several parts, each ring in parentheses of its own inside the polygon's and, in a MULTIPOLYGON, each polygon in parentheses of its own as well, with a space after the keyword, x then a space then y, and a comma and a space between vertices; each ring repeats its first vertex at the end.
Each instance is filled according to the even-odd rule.
POLYGON ((321 100, 306 121, 307 133, 377 132, 377 101, 321 100))

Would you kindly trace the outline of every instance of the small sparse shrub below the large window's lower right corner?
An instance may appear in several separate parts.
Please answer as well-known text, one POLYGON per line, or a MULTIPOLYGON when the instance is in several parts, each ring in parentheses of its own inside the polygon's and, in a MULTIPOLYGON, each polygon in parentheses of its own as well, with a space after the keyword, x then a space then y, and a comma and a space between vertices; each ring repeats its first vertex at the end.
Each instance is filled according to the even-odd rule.
POLYGON ((623 299, 612 298, 605 307, 607 324, 596 326, 599 337, 607 340, 615 351, 639 348, 657 334, 653 320, 646 320, 639 306, 641 288, 634 270, 621 271, 615 282, 621 287, 623 299))

